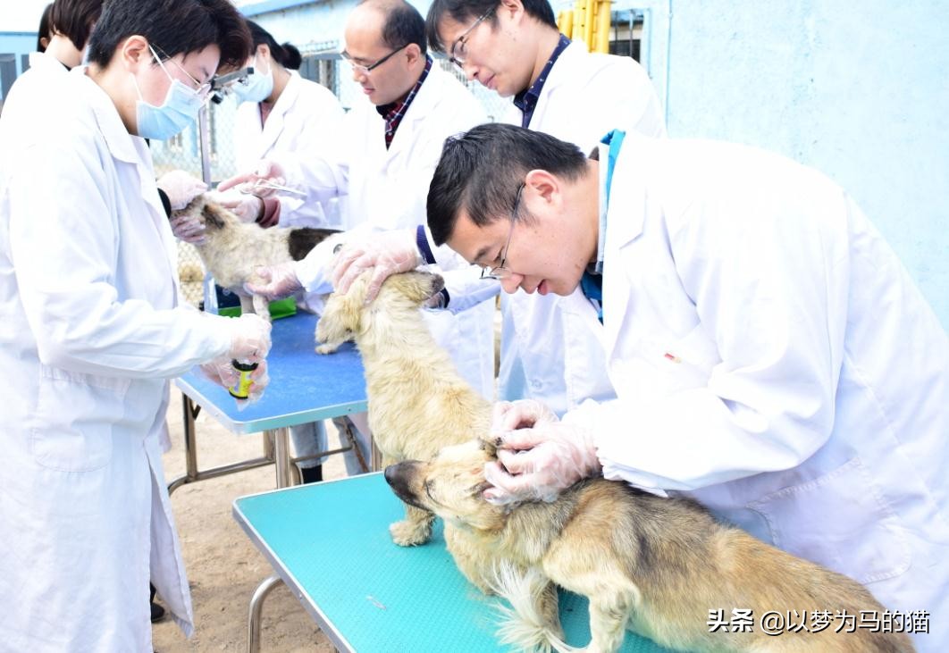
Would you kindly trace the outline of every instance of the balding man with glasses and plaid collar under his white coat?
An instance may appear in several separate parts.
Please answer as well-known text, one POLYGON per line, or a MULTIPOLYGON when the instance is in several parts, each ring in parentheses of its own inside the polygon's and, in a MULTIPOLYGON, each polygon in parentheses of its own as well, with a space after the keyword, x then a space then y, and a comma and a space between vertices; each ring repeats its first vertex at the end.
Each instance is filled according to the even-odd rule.
MULTIPOLYGON (((427 53, 425 23, 403 0, 367 0, 350 13, 343 56, 363 100, 346 115, 340 138, 327 147, 264 159, 245 174, 220 185, 281 181, 321 200, 345 196, 346 238, 374 239, 382 230, 410 227, 425 215, 425 196, 444 140, 485 120, 474 96, 444 72, 427 53)), ((270 299, 299 289, 330 292, 326 268, 334 252, 317 246, 302 261, 263 271, 270 283, 249 289, 270 299)), ((446 290, 469 298, 465 305, 426 310, 426 322, 446 347, 458 371, 485 397, 493 398, 493 298, 467 287, 486 289, 476 270, 460 259, 443 266, 446 290), (447 270, 449 266, 458 270, 447 270)), ((491 290, 490 288, 487 288, 491 290)), ((365 447, 365 415, 353 416, 365 447)), ((355 471, 351 457, 347 470, 355 471)))

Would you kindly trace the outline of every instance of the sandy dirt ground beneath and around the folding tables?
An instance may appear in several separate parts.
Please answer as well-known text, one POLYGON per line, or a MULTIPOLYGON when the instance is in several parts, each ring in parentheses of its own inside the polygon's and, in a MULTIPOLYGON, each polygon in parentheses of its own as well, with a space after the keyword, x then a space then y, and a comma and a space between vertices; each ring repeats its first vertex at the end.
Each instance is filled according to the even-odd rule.
MULTIPOLYGON (((184 474, 181 395, 173 388, 168 411, 173 447, 164 456, 170 481, 184 474)), ((198 469, 258 457, 263 436, 237 436, 206 415, 198 416, 198 469)), ((330 446, 338 442, 330 426, 330 446)), ((342 455, 329 457, 326 478, 345 476, 342 455)), ((172 494, 177 531, 184 551, 185 569, 195 607, 195 634, 185 639, 167 616, 153 626, 153 644, 158 653, 185 651, 243 651, 247 646, 247 614, 251 595, 270 575, 270 564, 251 545, 231 516, 233 499, 276 487, 272 465, 229 476, 183 485, 172 494)), ((160 598, 158 599, 160 604, 160 598)), ((320 632, 307 611, 281 585, 264 602, 261 651, 288 653, 335 648, 320 632)))

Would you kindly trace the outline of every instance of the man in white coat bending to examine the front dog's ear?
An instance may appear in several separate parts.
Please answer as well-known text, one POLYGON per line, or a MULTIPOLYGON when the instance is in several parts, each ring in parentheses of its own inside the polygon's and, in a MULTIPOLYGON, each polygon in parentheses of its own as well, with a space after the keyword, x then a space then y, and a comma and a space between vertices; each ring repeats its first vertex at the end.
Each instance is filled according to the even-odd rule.
POLYGON ((551 500, 601 473, 693 496, 865 584, 921 651, 946 650, 949 339, 895 253, 789 159, 605 140, 594 160, 483 125, 433 177, 436 243, 508 292, 582 289, 618 394, 563 420, 500 404, 486 498, 551 500))

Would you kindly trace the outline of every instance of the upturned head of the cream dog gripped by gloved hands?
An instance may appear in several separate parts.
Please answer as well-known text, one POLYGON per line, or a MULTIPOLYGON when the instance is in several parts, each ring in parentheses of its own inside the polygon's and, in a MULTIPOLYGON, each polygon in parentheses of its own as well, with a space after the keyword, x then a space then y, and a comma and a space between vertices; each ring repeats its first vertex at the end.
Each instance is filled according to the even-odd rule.
POLYGON ((400 316, 418 315, 425 300, 445 287, 444 279, 437 274, 401 272, 387 278, 376 298, 366 305, 365 295, 371 274, 371 271, 363 272, 344 295, 334 292, 326 300, 326 308, 316 326, 318 341, 343 342, 371 327, 385 323, 398 326, 400 316))

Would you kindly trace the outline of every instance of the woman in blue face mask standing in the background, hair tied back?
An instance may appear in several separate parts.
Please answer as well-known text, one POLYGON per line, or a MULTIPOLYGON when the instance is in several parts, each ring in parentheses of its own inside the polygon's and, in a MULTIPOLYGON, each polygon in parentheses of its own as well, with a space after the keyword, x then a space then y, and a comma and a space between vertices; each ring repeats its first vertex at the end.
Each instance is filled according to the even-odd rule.
MULTIPOLYGON (((326 87, 300 77, 300 51, 277 44, 268 31, 247 21, 253 68, 247 84, 233 84, 240 106, 234 126, 235 167, 244 170, 276 154, 326 151, 342 129, 344 111, 326 87)), ((307 189, 301 189, 306 191, 307 189)), ((279 196, 261 199, 228 194, 225 205, 242 219, 264 227, 325 227, 338 224, 336 207, 321 206, 310 197, 279 196)))

